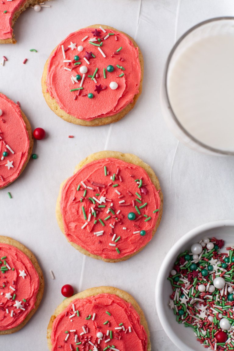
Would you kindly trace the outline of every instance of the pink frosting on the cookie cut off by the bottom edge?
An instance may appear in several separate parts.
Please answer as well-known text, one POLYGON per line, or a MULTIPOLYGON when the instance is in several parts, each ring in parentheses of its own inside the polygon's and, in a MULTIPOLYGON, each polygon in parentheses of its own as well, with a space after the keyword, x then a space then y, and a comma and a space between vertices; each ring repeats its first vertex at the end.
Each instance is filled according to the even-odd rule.
MULTIPOLYGON (((79 350, 91 349, 99 351, 105 349, 108 345, 111 347, 114 345, 114 349, 118 351, 133 349, 135 351, 146 351, 147 334, 144 327, 140 324, 138 313, 131 304, 114 294, 105 293, 85 299, 73 300, 55 318, 51 333, 51 343, 52 351, 60 349, 71 351, 76 350, 76 347, 79 350), (76 311, 79 311, 79 317, 76 311), (74 316, 69 318, 73 314, 74 316), (106 321, 108 323, 103 324, 106 321), (83 333, 83 326, 86 333, 83 333), (107 332, 108 330, 109 332, 107 332), (99 337, 97 337, 97 334, 100 332, 103 337, 98 343, 99 337), (67 340, 65 341, 66 337, 67 340), (77 338, 77 342, 75 342, 75 338, 77 338), (80 344, 78 345, 77 343, 80 344)), ((108 348, 108 350, 111 349, 108 348)))

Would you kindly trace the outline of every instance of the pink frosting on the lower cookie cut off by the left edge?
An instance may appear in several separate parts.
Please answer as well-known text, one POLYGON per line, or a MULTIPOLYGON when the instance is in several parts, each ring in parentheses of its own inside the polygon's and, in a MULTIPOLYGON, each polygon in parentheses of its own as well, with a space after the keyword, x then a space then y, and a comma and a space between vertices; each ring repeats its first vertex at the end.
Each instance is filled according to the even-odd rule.
POLYGON ((8 330, 34 309, 40 281, 31 260, 15 246, 0 243, 0 261, 1 270, 8 267, 0 273, 0 330, 8 330))

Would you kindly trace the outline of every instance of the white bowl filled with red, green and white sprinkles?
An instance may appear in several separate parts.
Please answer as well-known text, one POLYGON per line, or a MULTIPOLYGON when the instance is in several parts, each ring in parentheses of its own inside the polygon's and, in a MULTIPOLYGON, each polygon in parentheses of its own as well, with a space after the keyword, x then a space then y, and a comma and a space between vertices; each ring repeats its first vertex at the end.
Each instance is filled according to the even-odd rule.
POLYGON ((234 220, 199 226, 167 253, 156 282, 160 322, 182 351, 234 350, 234 220))

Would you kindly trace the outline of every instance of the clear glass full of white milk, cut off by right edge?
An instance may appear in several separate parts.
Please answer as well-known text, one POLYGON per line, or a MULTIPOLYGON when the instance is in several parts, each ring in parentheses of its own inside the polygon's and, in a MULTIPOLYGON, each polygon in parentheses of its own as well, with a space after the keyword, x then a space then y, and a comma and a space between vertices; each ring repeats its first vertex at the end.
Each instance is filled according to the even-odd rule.
POLYGON ((176 42, 163 75, 161 106, 182 143, 234 155, 234 17, 201 22, 176 42))

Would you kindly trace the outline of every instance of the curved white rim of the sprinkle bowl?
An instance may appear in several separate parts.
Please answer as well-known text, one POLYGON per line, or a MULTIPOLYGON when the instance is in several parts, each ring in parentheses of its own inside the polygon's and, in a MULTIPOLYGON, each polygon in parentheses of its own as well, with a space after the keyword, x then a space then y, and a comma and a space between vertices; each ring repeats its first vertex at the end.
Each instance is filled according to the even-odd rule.
POLYGON ((160 266, 158 277, 156 279, 156 284, 155 284, 156 310, 158 313, 160 323, 163 327, 163 330, 166 332, 169 339, 171 339, 172 342, 181 349, 181 351, 196 351, 196 350, 188 349, 188 346, 181 341, 181 339, 175 334, 171 326, 168 325, 167 318, 165 317, 164 309, 162 307, 163 296, 165 294, 163 293, 161 282, 165 279, 165 272, 168 270, 169 266, 171 265, 171 256, 173 256, 175 252, 177 252, 182 245, 186 244, 187 241, 196 237, 197 234, 202 233, 203 231, 214 229, 214 228, 226 227, 226 226, 234 227, 234 219, 216 220, 216 221, 202 224, 190 230, 189 232, 184 234, 178 241, 176 241, 176 243, 171 247, 171 249, 166 254, 160 266))

